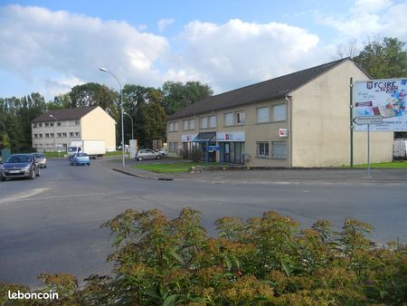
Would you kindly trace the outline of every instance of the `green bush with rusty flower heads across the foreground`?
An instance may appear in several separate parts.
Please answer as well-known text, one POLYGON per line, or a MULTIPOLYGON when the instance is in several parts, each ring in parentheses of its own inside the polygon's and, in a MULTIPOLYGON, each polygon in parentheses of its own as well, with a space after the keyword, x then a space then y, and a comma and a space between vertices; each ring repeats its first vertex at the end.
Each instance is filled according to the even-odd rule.
MULTIPOLYGON (((103 224, 114 236, 115 278, 92 275, 79 288, 67 274, 42 274, 61 305, 407 305, 407 248, 376 247, 373 227, 348 218, 341 232, 320 220, 300 230, 274 211, 243 222, 215 222, 184 208, 168 220, 159 210, 128 209, 103 224)), ((0 303, 8 290, 0 285, 0 303)), ((28 290, 28 288, 25 288, 28 290)), ((3 300, 2 300, 3 299, 3 300)), ((19 301, 19 304, 24 302, 19 301)), ((25 301, 27 305, 47 301, 25 301)))

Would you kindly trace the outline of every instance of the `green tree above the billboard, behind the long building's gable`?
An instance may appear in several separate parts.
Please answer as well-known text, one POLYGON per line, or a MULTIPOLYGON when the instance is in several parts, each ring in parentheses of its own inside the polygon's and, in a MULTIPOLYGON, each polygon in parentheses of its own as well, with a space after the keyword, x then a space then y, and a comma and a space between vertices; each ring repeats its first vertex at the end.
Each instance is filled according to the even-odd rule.
POLYGON ((373 79, 401 78, 407 75, 405 43, 397 38, 384 37, 382 42, 373 41, 355 57, 355 62, 373 79))

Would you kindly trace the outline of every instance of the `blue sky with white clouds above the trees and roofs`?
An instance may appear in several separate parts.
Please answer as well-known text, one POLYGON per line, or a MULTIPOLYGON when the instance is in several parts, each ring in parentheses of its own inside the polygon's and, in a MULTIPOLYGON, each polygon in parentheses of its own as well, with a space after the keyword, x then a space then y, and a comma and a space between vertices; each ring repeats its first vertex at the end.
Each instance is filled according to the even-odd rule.
POLYGON ((0 98, 118 82, 214 93, 407 42, 407 0, 0 0, 0 98), (106 72, 104 67, 116 76, 106 72))

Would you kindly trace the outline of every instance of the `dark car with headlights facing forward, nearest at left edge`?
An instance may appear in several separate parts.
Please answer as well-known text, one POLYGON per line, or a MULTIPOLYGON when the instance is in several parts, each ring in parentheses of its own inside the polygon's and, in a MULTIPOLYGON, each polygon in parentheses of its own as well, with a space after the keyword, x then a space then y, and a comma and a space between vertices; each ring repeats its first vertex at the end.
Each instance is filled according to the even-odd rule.
POLYGON ((32 154, 12 154, 3 164, 0 164, 0 180, 2 181, 14 177, 34 179, 40 174, 40 165, 32 154))

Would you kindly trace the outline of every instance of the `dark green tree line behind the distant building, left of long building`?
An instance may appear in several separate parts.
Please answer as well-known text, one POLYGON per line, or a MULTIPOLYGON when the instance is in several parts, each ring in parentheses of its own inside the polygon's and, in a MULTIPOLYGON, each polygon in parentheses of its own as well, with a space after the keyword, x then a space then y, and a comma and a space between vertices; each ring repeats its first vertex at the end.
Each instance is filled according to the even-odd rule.
MULTIPOLYGON (((138 144, 150 147, 153 139, 166 139, 166 117, 197 100, 213 95, 211 87, 199 81, 166 81, 161 88, 126 84, 122 90, 123 110, 132 118, 124 116, 125 143, 131 139, 132 129, 138 144)), ((62 110, 100 106, 121 127, 120 92, 105 85, 89 82, 72 87, 46 102, 43 96, 32 93, 22 98, 0 98, 0 133, 3 147, 14 152, 31 151, 31 121, 47 110, 62 110)), ((118 143, 121 130, 117 129, 118 143)))

